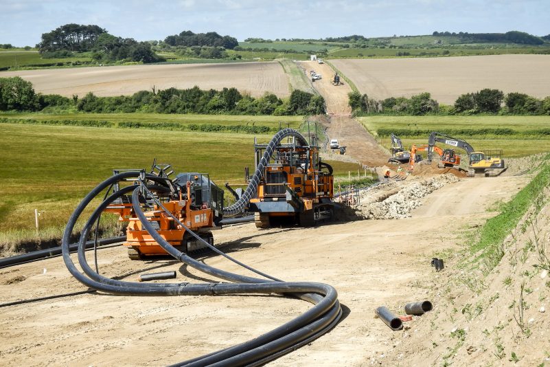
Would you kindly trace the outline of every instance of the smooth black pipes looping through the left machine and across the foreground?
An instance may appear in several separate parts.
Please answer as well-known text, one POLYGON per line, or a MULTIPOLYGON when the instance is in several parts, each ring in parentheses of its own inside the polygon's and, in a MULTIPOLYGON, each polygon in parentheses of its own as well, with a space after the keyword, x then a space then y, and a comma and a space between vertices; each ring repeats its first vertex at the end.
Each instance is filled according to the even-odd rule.
MULTIPOLYGON (((77 206, 76 210, 71 214, 65 233, 62 238, 62 252, 63 260, 67 265, 69 272, 82 282, 84 285, 103 291, 106 293, 122 294, 122 295, 159 295, 159 296, 179 296, 179 295, 225 295, 225 294, 244 294, 244 293, 283 293, 290 295, 299 295, 303 300, 314 303, 314 307, 308 310, 303 315, 287 322, 286 324, 279 326, 260 337, 255 338, 249 342, 244 342, 227 348, 225 350, 211 353, 207 356, 198 357, 187 362, 182 362, 178 365, 187 364, 190 366, 241 366, 244 364, 257 364, 266 363, 269 360, 282 355, 282 353, 288 353, 301 346, 305 342, 310 342, 315 338, 328 332, 334 324, 341 318, 341 308, 337 300, 337 293, 333 287, 324 285, 321 283, 312 282, 281 282, 271 281, 266 279, 251 278, 249 276, 241 276, 239 274, 233 274, 227 271, 216 269, 200 263, 186 254, 179 252, 172 247, 169 243, 163 240, 163 238, 152 228, 150 223, 144 217, 141 208, 139 207, 139 194, 140 188, 136 186, 128 186, 123 188, 110 197, 105 199, 98 208, 93 212, 92 216, 87 221, 84 230, 80 236, 78 246, 78 261, 80 266, 84 270, 82 274, 79 269, 74 265, 71 257, 69 256, 69 238, 73 227, 89 203, 98 196, 109 185, 118 181, 124 181, 130 177, 139 177, 139 172, 126 172, 119 175, 115 175, 103 183, 100 183, 96 188, 91 190, 81 203, 77 206), (139 282, 126 282, 122 280, 114 280, 106 278, 96 273, 87 265, 86 252, 84 251, 84 243, 86 243, 93 224, 98 220, 102 210, 106 206, 113 202, 117 197, 126 192, 133 190, 133 198, 137 197, 137 200, 133 199, 135 208, 139 208, 136 214, 140 216, 142 224, 150 232, 151 236, 157 240, 169 254, 178 258, 183 263, 190 265, 201 271, 205 271, 212 276, 218 276, 219 278, 230 280, 232 282, 239 282, 238 284, 231 283, 212 283, 212 284, 188 284, 188 283, 158 283, 158 284, 144 284, 139 282)), ((151 177, 146 175, 145 179, 148 180, 151 177)), ((145 187, 146 188, 146 187, 145 187)))

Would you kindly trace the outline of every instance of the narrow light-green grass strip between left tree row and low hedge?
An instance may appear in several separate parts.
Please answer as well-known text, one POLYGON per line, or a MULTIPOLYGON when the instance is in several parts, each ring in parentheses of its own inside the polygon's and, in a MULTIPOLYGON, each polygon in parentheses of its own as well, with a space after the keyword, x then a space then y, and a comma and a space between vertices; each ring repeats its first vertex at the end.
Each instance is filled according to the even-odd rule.
POLYGON ((77 120, 119 122, 216 124, 216 125, 256 125, 298 128, 302 116, 247 116, 247 115, 172 115, 161 113, 0 113, 0 118, 10 120, 77 120))

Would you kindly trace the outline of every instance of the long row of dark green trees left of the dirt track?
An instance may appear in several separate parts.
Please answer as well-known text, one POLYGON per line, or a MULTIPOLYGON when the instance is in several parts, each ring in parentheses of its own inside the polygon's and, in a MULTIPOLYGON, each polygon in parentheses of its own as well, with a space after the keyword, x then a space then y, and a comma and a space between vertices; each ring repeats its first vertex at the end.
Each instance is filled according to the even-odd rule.
POLYGON ((32 83, 19 76, 0 78, 0 111, 82 111, 89 113, 203 113, 233 115, 319 115, 325 113, 321 96, 295 89, 288 98, 266 93, 260 98, 236 88, 203 90, 170 88, 139 91, 132 96, 78 98, 35 93, 32 83))

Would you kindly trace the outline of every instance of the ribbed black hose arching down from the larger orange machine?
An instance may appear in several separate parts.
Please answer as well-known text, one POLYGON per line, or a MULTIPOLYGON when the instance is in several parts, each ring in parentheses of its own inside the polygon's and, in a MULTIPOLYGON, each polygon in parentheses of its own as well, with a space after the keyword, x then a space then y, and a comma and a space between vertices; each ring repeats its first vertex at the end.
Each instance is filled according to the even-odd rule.
POLYGON ((271 158, 273 151, 275 151, 277 145, 279 145, 279 143, 285 137, 289 136, 297 138, 299 144, 302 144, 304 146, 308 145, 306 138, 303 137, 303 135, 301 135, 301 133, 299 133, 299 131, 295 129, 281 129, 275 135, 273 135, 273 138, 271 138, 271 141, 266 146, 266 150, 264 151, 264 155, 262 155, 262 159, 260 159, 260 162, 258 162, 256 166, 256 170, 254 171, 254 175, 250 179, 247 190, 244 190, 240 199, 238 199, 238 201, 236 201, 233 205, 230 205, 229 207, 223 209, 224 216, 235 216, 244 211, 244 208, 247 206, 250 199, 252 199, 254 197, 254 194, 256 193, 257 186, 260 184, 264 169, 269 164, 269 159, 271 158))

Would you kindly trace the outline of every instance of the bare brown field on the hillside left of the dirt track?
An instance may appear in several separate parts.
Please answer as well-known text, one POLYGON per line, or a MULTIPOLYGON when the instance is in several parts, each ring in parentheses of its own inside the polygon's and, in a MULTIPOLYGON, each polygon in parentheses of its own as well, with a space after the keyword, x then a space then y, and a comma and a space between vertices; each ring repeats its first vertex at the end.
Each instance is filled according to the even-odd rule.
POLYGON ((112 67, 78 67, 6 71, 0 77, 21 76, 40 93, 71 97, 89 91, 96 96, 130 95, 137 91, 175 87, 222 89, 236 87, 241 93, 262 96, 290 94, 288 76, 279 63, 226 63, 179 65, 132 65, 112 67))

